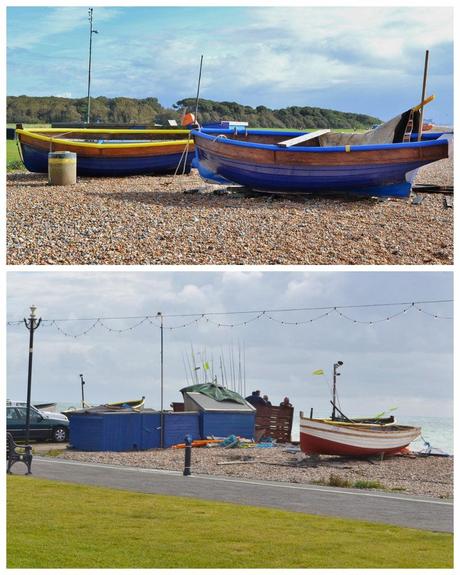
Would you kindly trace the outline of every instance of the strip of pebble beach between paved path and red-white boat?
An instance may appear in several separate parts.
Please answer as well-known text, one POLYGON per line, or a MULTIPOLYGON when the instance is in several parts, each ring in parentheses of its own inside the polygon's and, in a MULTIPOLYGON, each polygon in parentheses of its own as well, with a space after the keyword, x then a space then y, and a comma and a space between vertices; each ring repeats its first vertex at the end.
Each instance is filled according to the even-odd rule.
MULTIPOLYGON (((183 449, 137 452, 83 452, 72 449, 61 459, 183 471, 183 449)), ((283 481, 353 487, 356 482, 378 482, 378 490, 436 498, 453 497, 453 457, 415 454, 372 459, 306 457, 292 445, 271 448, 201 447, 192 449, 192 473, 247 480, 283 481)), ((374 491, 375 489, 373 489, 374 491)))

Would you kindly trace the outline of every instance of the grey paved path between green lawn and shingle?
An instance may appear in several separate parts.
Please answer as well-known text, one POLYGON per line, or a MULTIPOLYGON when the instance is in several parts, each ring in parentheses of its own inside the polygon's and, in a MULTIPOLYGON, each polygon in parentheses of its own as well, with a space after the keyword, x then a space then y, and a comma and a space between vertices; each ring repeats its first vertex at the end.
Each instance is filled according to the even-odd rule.
MULTIPOLYGON (((16 473, 23 472, 20 464, 16 464, 13 470, 16 473)), ((429 531, 453 531, 452 501, 428 497, 227 477, 184 477, 175 471, 64 461, 39 456, 34 457, 32 472, 35 477, 142 493, 275 507, 429 531)))

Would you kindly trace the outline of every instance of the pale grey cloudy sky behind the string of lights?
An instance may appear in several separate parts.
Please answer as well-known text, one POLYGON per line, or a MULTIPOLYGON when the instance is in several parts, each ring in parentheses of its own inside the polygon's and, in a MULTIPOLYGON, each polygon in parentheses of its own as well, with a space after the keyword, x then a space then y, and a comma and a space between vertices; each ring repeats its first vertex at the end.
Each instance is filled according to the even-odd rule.
MULTIPOLYGON (((80 399, 79 374, 86 381, 86 399, 93 403, 146 396, 150 407, 160 405, 160 333, 144 322, 126 332, 135 319, 106 320, 82 337, 96 317, 135 317, 163 314, 334 307, 370 303, 412 302, 452 298, 450 272, 10 272, 8 320, 21 320, 35 304, 44 320, 58 322, 60 331, 42 323, 35 333, 32 399, 73 402, 80 399), (70 334, 64 335, 64 333, 70 334)), ((344 362, 339 378, 343 411, 351 416, 376 415, 397 406, 404 416, 452 414, 452 304, 424 304, 390 321, 403 306, 343 309, 309 322, 323 311, 277 312, 247 325, 256 313, 209 316, 181 329, 165 329, 165 406, 180 401, 187 385, 184 356, 191 345, 196 365, 205 359, 218 368, 222 357, 230 372, 230 352, 238 369, 238 346, 245 350, 246 389, 260 389, 273 402, 289 396, 295 410, 317 416, 330 413, 332 365, 344 362), (352 320, 357 320, 354 323, 352 320), (280 323, 281 321, 285 324, 280 323), (288 322, 307 322, 291 325, 288 322), (198 355, 198 352, 202 356, 198 355), (325 377, 312 372, 323 369, 325 377)), ((194 318, 166 317, 170 328, 194 318)), ((26 398, 28 331, 8 327, 8 386, 10 399, 26 398)), ((228 375, 230 380, 230 376, 228 375)))

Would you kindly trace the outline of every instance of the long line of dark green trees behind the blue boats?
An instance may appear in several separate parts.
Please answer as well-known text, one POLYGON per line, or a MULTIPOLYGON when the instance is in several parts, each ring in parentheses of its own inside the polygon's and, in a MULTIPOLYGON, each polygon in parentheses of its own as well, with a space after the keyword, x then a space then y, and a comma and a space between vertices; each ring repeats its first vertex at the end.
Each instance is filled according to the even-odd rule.
MULTIPOLYGON (((163 107, 157 98, 91 98, 91 122, 113 124, 166 124, 167 120, 180 123, 184 108, 195 109, 195 99, 179 100, 172 108, 163 107)), ((85 122, 86 98, 57 96, 8 96, 7 122, 24 124, 52 124, 54 122, 85 122)), ((369 128, 380 123, 366 114, 339 112, 311 106, 289 106, 272 110, 266 106, 244 106, 237 102, 200 100, 200 124, 237 120, 260 128, 369 128)))

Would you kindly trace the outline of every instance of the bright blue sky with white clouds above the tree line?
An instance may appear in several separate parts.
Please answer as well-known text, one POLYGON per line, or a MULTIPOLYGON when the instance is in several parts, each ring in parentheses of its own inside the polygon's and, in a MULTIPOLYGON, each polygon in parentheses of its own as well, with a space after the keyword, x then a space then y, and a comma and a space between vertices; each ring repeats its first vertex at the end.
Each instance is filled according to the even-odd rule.
MULTIPOLYGON (((83 97, 87 6, 10 7, 7 94, 83 97)), ((449 7, 95 7, 92 95, 319 106, 389 119, 418 103, 453 118, 449 7)))

